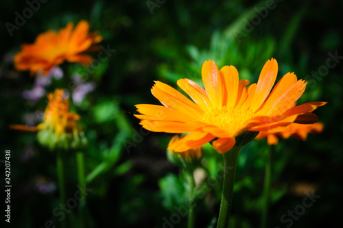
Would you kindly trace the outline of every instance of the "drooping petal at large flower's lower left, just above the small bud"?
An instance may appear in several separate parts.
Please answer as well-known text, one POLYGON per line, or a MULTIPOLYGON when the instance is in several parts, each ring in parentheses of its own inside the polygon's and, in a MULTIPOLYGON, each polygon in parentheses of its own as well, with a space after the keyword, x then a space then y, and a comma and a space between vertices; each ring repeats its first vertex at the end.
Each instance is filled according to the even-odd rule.
POLYGON ((210 142, 215 138, 211 134, 202 131, 192 131, 187 136, 182 137, 180 140, 169 145, 168 149, 176 152, 187 151, 202 147, 202 145, 210 142))

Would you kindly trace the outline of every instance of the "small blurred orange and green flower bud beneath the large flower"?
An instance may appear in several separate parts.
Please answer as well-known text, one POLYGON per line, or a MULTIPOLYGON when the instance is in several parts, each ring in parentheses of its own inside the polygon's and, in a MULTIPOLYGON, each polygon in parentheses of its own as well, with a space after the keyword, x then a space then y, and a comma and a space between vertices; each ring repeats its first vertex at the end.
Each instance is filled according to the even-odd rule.
MULTIPOLYGON (((173 136, 169 141, 169 146, 174 144, 174 142, 178 141, 180 137, 178 135, 173 136)), ((167 157, 170 162, 176 164, 177 166, 181 166, 183 168, 194 168, 196 167, 200 160, 202 159, 202 147, 189 149, 182 153, 176 153, 171 150, 167 150, 167 157)))

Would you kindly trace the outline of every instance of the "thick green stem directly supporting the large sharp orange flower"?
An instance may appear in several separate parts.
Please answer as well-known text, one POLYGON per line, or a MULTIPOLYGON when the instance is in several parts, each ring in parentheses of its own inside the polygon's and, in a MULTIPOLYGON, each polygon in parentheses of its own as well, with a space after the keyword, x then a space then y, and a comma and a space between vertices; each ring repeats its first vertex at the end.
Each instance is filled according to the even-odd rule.
POLYGON ((237 157, 240 150, 241 147, 233 147, 233 149, 223 154, 224 181, 217 228, 228 228, 228 218, 230 217, 230 210, 233 201, 233 184, 235 183, 237 157))

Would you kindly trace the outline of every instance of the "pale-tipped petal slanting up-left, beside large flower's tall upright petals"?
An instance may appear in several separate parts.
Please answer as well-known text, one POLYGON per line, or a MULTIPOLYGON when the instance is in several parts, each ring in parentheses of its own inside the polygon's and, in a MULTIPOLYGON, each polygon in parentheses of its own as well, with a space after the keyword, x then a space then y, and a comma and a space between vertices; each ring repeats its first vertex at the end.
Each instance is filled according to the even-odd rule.
POLYGON ((177 83, 178 86, 185 91, 203 111, 209 110, 212 107, 206 91, 196 84, 196 82, 189 79, 180 79, 177 83))

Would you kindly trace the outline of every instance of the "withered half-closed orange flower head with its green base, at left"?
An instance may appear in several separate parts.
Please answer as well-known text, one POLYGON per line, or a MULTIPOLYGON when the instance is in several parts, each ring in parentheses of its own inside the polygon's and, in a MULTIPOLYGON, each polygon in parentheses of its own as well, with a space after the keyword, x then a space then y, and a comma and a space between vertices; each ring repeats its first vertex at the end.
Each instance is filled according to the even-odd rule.
POLYGON ((78 125, 80 116, 69 112, 69 99, 63 97, 64 90, 48 94, 49 103, 45 109, 43 123, 36 127, 10 125, 11 129, 39 131, 38 141, 50 149, 78 148, 86 144, 86 138, 78 125))

